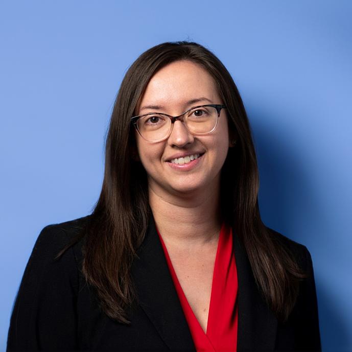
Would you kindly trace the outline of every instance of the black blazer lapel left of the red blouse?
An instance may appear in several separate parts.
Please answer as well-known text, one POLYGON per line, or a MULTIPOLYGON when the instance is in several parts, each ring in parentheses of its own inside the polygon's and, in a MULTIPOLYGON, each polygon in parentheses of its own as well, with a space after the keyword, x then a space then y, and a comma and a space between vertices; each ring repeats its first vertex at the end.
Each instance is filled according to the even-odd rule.
POLYGON ((137 254, 132 277, 138 303, 171 350, 195 351, 152 217, 137 254))

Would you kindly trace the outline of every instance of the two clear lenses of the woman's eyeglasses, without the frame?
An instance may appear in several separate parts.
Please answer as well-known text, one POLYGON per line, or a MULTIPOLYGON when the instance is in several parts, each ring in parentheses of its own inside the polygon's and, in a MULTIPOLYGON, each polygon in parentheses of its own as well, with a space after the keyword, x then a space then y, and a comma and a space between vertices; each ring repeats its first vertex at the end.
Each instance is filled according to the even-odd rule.
MULTIPOLYGON (((193 134, 205 134, 211 132, 218 120, 218 111, 213 106, 202 106, 184 115, 184 124, 193 134)), ((172 122, 168 115, 163 113, 153 113, 142 116, 137 121, 139 133, 151 142, 160 140, 168 136, 172 129, 172 122)))

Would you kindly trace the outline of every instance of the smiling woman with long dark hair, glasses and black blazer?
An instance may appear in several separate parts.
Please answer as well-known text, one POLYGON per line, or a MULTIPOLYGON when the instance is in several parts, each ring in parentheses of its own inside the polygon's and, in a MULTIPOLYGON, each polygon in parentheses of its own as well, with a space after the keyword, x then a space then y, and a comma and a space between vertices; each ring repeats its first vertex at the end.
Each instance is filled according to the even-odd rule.
POLYGON ((40 233, 8 350, 320 350, 311 256, 265 227, 258 188, 224 65, 193 42, 146 51, 116 98, 95 210, 40 233))

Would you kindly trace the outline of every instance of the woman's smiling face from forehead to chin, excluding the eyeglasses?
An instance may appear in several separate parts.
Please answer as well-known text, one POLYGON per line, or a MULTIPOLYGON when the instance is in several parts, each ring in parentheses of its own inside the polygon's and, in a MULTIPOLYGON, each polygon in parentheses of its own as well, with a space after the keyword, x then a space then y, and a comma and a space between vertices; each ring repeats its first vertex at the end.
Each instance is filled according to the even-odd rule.
MULTIPOLYGON (((223 104, 215 81, 201 66, 191 61, 176 61, 160 69, 150 80, 136 114, 163 112, 179 115, 194 106, 223 104), (199 99, 189 104, 191 100, 199 99)), ((181 195, 194 191, 206 192, 220 185, 229 133, 227 117, 221 110, 217 128, 202 136, 189 133, 182 122, 176 121, 171 135, 162 142, 151 143, 137 132, 139 159, 147 175, 148 185, 160 196, 181 195), (190 162, 173 163, 175 158, 199 154, 190 162)), ((186 158, 186 161, 189 161, 186 158)))

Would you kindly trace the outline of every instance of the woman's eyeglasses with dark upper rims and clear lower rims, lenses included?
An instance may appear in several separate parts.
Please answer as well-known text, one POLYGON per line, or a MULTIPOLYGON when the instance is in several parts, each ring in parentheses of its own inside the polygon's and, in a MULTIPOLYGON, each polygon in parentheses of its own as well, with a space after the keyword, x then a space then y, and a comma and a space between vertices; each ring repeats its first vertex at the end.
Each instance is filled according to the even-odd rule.
POLYGON ((173 124, 179 120, 183 122, 187 131, 193 135, 201 136, 213 132, 218 126, 221 109, 225 105, 200 105, 183 112, 178 116, 166 113, 149 112, 144 115, 133 116, 131 123, 148 142, 161 142, 167 139, 172 131, 173 124))

